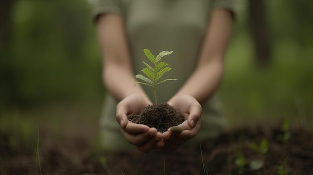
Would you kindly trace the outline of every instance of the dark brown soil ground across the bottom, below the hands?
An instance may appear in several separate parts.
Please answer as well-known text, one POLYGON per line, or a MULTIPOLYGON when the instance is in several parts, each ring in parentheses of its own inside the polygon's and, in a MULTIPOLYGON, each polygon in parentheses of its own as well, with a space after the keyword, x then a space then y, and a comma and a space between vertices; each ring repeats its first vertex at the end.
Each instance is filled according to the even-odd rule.
MULTIPOLYGON (((51 141, 41 143, 37 172, 40 175, 40 168, 42 175, 204 175, 205 165, 208 175, 312 175, 312 133, 280 128, 259 125, 228 131, 203 142, 202 154, 200 147, 182 147, 174 152, 105 153, 83 137, 71 137, 66 139, 72 143, 70 147, 51 141), (281 139, 286 134, 289 136, 281 139), (268 150, 263 154, 250 149, 251 144, 259 145, 264 139, 268 150), (253 160, 263 161, 263 165, 254 165, 252 169, 258 168, 252 170, 253 160)), ((0 133, 0 174, 35 175, 36 149, 11 149, 10 140, 7 133, 0 133)))

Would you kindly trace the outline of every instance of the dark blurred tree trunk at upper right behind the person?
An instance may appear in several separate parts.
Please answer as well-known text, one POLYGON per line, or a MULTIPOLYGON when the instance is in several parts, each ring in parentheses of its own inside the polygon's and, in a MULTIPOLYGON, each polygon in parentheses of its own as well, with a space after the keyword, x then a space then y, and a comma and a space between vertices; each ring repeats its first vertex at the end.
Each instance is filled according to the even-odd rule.
POLYGON ((270 42, 264 0, 249 0, 248 9, 256 63, 265 66, 270 62, 270 42))

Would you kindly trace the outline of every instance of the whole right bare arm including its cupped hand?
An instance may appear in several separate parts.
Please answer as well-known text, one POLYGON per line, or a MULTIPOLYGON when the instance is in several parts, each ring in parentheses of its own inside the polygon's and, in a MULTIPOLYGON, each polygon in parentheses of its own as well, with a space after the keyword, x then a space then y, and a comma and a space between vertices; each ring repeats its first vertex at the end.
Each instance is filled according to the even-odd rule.
POLYGON ((168 101, 168 104, 182 113, 187 120, 178 125, 184 130, 180 134, 174 134, 170 129, 163 133, 162 141, 166 149, 175 150, 197 134, 201 123, 200 103, 213 94, 222 78, 224 53, 230 38, 231 25, 232 17, 229 11, 212 11, 196 69, 168 101))

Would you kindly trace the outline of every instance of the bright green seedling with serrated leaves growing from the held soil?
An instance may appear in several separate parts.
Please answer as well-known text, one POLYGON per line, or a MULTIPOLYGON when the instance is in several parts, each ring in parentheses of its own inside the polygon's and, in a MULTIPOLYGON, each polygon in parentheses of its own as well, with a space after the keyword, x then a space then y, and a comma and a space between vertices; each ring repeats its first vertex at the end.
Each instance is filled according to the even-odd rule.
POLYGON ((141 72, 143 72, 146 76, 142 74, 137 74, 135 77, 144 81, 144 82, 137 82, 137 83, 153 87, 154 103, 157 104, 155 86, 168 80, 177 80, 177 79, 165 79, 165 80, 159 81, 162 75, 165 72, 170 71, 171 69, 171 67, 167 66, 168 63, 165 63, 163 61, 160 62, 160 60, 162 59, 163 56, 171 54, 172 51, 162 51, 156 57, 154 57, 154 55, 148 49, 143 49, 143 52, 153 65, 150 66, 146 62, 142 61, 142 63, 146 67, 143 68, 141 72))

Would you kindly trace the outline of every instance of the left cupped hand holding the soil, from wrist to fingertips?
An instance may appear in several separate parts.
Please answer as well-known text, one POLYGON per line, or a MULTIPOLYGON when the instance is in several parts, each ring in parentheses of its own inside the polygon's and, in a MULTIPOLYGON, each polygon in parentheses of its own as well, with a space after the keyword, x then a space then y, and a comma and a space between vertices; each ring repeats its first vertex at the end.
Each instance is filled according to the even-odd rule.
POLYGON ((119 123, 122 136, 141 152, 149 152, 152 149, 163 146, 163 143, 158 143, 162 135, 155 128, 134 124, 127 119, 128 115, 138 114, 149 104, 151 102, 144 100, 142 96, 132 94, 120 101, 116 106, 116 121, 119 123))

